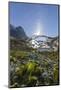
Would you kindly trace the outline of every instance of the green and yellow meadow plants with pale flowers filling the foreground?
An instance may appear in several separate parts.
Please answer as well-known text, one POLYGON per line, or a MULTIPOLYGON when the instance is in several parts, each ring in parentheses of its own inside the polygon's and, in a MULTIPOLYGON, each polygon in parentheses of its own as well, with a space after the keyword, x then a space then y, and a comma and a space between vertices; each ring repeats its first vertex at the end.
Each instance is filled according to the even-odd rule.
POLYGON ((10 87, 57 85, 57 52, 10 52, 10 87))

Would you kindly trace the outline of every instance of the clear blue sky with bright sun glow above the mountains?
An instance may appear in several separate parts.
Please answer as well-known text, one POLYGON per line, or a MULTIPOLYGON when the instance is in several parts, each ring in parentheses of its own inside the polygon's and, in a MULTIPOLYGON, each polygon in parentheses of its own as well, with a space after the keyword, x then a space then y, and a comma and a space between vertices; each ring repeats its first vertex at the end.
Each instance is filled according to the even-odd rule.
POLYGON ((58 5, 9 3, 9 23, 22 26, 27 36, 58 35, 58 5))

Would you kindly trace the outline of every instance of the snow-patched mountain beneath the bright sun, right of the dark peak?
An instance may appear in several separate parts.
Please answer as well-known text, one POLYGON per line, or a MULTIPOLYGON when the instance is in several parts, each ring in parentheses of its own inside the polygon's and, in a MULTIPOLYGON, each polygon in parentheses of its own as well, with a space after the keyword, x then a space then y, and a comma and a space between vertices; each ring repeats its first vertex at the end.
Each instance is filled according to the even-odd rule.
MULTIPOLYGON (((44 35, 42 35, 44 36, 44 35)), ((42 37, 41 36, 41 37, 42 37)), ((39 36, 36 36, 38 38, 39 36)), ((29 46, 35 49, 38 49, 38 51, 57 51, 59 47, 59 41, 58 41, 58 36, 56 37, 48 37, 44 36, 47 39, 45 41, 37 40, 35 38, 29 39, 29 46)))

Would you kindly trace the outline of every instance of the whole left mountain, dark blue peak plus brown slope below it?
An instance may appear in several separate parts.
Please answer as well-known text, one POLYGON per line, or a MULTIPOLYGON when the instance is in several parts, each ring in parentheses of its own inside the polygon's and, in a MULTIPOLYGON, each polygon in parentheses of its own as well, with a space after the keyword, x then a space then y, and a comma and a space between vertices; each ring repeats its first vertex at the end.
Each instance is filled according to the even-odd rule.
POLYGON ((27 35, 21 26, 14 27, 10 24, 10 49, 28 50, 27 35))

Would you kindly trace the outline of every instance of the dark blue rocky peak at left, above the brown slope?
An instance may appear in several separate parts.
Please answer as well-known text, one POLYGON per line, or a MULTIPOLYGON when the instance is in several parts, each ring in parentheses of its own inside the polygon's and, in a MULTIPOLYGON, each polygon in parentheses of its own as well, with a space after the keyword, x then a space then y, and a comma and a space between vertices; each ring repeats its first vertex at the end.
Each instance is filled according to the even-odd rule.
POLYGON ((21 26, 14 27, 10 24, 10 36, 16 39, 27 39, 27 35, 21 26))

